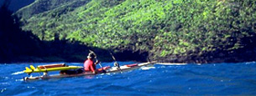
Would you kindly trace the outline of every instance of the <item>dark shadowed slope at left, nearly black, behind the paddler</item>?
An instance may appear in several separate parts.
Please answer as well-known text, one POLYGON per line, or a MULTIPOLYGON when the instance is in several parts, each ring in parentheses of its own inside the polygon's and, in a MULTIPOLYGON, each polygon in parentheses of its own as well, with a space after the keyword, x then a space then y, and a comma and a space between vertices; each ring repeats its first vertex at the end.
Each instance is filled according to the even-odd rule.
POLYGON ((39 40, 30 31, 20 28, 19 18, 13 15, 8 6, 9 1, 5 0, 0 7, 0 63, 82 62, 86 59, 88 49, 100 50, 103 52, 99 53, 101 56, 109 57, 106 55, 107 50, 70 43, 60 40, 57 35, 54 41, 39 40))

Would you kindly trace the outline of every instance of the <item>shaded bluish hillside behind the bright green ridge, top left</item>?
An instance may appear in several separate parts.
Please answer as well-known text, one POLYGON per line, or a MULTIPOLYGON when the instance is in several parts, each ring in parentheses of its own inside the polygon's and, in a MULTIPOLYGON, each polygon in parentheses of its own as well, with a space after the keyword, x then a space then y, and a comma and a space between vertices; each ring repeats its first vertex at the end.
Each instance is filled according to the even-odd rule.
POLYGON ((79 7, 85 3, 87 3, 87 0, 36 0, 29 6, 20 9, 16 14, 18 14, 18 16, 22 16, 24 19, 31 18, 40 13, 45 14, 55 12, 63 14, 68 11, 72 11, 76 7, 79 7))

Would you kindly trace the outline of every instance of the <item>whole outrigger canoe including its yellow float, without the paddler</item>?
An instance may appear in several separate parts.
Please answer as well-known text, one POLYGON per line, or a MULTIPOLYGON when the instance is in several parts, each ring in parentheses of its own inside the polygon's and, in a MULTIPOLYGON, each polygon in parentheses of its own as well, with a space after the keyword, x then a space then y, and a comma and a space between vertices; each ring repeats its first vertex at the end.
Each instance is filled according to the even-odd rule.
MULTIPOLYGON (((133 70, 136 68, 141 68, 144 66, 152 66, 154 65, 154 63, 134 63, 134 64, 126 64, 120 67, 114 66, 114 67, 103 67, 103 68, 98 68, 97 71, 99 73, 117 73, 117 72, 125 72, 125 71, 129 71, 129 70, 133 70), (102 71, 104 70, 104 71, 102 71)), ((85 73, 77 73, 77 74, 53 74, 53 75, 48 75, 48 71, 61 71, 61 70, 69 70, 69 69, 76 69, 76 68, 81 68, 80 66, 62 66, 62 67, 52 67, 52 65, 44 65, 44 66, 51 66, 50 68, 44 68, 44 67, 40 67, 38 66, 37 68, 29 68, 29 70, 32 70, 32 73, 44 73, 44 75, 42 76, 36 76, 36 77, 24 77, 24 80, 36 80, 36 79, 48 79, 48 78, 67 78, 67 77, 79 77, 79 76, 86 76, 86 75, 96 75, 99 73, 91 73, 91 72, 85 72, 85 73), (41 69, 43 68, 43 69, 41 69), (34 70, 33 70, 34 69, 34 70), (40 71, 39 71, 40 70, 40 71), (48 70, 48 71, 45 71, 48 70)), ((57 65, 56 65, 57 66, 57 65)), ((27 70, 27 68, 26 68, 27 70)), ((31 73, 31 71, 26 71, 24 70, 24 73, 29 72, 29 74, 31 73)))

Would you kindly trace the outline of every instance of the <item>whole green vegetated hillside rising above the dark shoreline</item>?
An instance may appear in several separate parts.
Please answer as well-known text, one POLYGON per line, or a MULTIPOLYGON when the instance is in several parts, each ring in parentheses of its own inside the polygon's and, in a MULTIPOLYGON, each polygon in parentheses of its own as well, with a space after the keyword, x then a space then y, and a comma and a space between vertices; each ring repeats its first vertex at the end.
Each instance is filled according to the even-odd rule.
POLYGON ((254 0, 37 0, 18 11, 26 31, 165 62, 255 60, 254 0), (43 6, 42 6, 43 5, 43 6))

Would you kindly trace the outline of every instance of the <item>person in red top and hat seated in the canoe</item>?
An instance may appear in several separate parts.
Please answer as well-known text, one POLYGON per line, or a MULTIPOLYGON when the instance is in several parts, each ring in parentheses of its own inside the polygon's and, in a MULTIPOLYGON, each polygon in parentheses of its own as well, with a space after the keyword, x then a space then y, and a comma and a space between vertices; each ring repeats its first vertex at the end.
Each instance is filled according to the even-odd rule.
POLYGON ((86 72, 97 73, 96 65, 97 63, 100 63, 100 62, 97 60, 96 63, 94 63, 93 62, 94 58, 96 58, 96 55, 94 53, 88 54, 87 59, 84 63, 84 70, 86 72))

